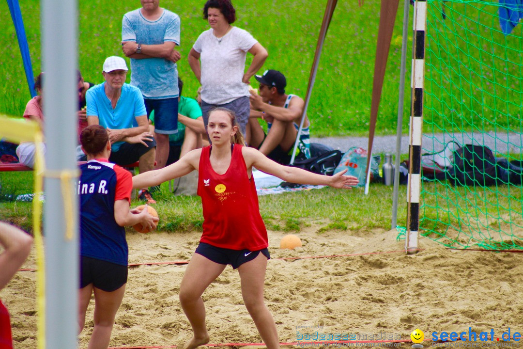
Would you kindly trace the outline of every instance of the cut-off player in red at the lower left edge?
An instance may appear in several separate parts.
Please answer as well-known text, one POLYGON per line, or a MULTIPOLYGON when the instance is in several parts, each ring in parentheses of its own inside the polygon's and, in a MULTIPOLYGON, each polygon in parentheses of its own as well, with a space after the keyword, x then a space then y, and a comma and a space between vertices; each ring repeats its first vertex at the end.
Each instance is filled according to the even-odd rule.
MULTIPOLYGON (((0 245, 4 252, 0 254, 0 290, 16 274, 31 251, 32 238, 7 223, 0 222, 0 245)), ((11 322, 7 308, 0 300, 0 348, 13 347, 11 322)))

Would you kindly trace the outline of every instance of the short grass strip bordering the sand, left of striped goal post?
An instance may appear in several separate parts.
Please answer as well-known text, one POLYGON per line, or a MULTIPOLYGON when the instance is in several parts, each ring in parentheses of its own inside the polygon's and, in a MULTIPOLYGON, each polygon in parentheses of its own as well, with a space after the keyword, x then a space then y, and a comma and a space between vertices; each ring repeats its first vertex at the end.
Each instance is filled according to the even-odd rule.
MULTIPOLYGON (((13 222, 32 230, 31 202, 12 201, 19 194, 32 193, 32 172, 0 172, 0 220, 13 222), (10 197, 6 197, 9 195, 10 197)), ((400 190, 399 222, 406 217, 405 188, 400 190)), ((156 193, 155 208, 162 218, 158 224, 161 231, 201 230, 203 223, 201 199, 198 196, 174 196, 167 183, 162 192, 156 193)), ((134 200, 132 207, 141 205, 134 200)), ((265 195, 259 197, 261 216, 267 229, 299 231, 306 226, 324 230, 389 229, 391 223, 392 187, 372 184, 370 195, 362 188, 351 190, 323 188, 305 192, 265 195)))

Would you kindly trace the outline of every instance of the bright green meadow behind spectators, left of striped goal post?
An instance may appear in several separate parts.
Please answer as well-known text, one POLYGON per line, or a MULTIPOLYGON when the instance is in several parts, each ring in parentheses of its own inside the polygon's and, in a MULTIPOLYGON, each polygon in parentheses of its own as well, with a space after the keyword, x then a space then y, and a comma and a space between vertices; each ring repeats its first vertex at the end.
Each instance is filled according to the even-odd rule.
MULTIPOLYGON (((198 81, 190 70, 187 54, 200 33, 209 28, 207 21, 202 19, 203 4, 204 1, 194 0, 161 2, 161 6, 181 18, 179 50, 182 59, 178 63, 178 71, 185 82, 184 94, 191 97, 196 95, 198 81)), ((266 69, 280 70, 287 76, 287 91, 305 97, 326 1, 236 0, 234 5, 238 18, 234 25, 251 32, 269 52, 269 58, 259 73, 266 69)), ((79 69, 86 81, 102 82, 101 65, 104 59, 109 55, 123 57, 120 46, 122 16, 139 6, 139 1, 79 2, 79 69)), ((36 76, 41 67, 40 1, 21 1, 20 7, 36 76)), ((362 7, 357 2, 338 2, 308 109, 314 137, 368 133, 379 7, 378 0, 367 0, 362 7)), ((30 96, 15 29, 5 2, 0 2, 0 14, 6 19, 0 23, 3 33, 0 47, 6 52, 0 65, 0 76, 4 76, 0 84, 0 114, 21 116, 30 96)), ((402 20, 403 11, 400 8, 378 119, 377 128, 382 134, 395 133, 402 20)), ((256 83, 254 78, 252 83, 256 83)), ((407 99, 410 98, 408 78, 405 93, 407 99)), ((406 102, 405 132, 408 108, 409 103, 406 102)))

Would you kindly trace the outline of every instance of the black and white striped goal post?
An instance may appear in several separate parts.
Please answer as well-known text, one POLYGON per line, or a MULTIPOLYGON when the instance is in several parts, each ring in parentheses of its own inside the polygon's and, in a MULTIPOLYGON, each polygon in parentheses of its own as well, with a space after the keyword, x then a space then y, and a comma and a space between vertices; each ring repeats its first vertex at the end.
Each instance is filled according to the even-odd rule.
POLYGON ((408 152, 407 234, 405 237, 405 251, 407 253, 414 253, 418 249, 426 24, 427 2, 426 0, 416 0, 414 3, 414 37, 411 72, 412 99, 409 132, 410 148, 408 152))

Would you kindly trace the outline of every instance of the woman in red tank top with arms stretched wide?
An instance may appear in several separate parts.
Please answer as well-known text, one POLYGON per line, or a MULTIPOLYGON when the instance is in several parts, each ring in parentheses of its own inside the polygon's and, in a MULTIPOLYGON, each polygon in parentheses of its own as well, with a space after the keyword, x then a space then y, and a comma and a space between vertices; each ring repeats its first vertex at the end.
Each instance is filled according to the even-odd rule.
POLYGON ((280 165, 254 148, 243 147, 234 112, 215 108, 207 132, 211 146, 190 151, 172 165, 133 177, 133 187, 158 185, 199 171, 198 195, 203 205, 203 234, 181 280, 180 303, 189 319, 193 337, 183 349, 209 342, 203 291, 227 264, 238 269, 242 296, 267 348, 279 347, 276 324, 264 303, 267 231, 258 209, 252 167, 281 179, 302 184, 350 188, 358 179, 339 172, 323 176, 297 167, 280 165))

